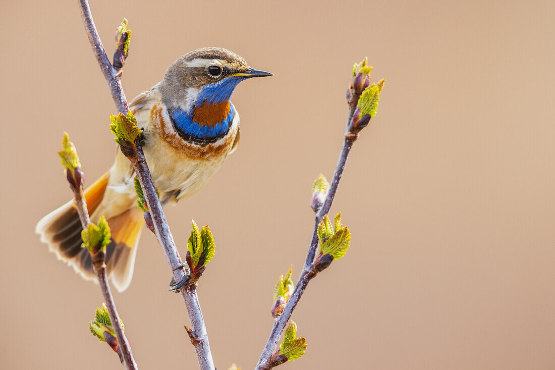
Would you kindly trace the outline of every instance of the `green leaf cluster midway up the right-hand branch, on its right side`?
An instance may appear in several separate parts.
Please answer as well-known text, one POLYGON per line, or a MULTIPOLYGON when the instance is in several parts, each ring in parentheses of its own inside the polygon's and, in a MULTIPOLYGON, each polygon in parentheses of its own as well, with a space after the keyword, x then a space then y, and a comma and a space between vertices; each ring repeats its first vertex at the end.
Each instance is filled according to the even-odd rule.
POLYGON ((331 254, 334 260, 345 256, 351 245, 351 232, 342 225, 341 212, 335 215, 334 226, 331 225, 326 214, 318 224, 317 234, 320 241, 320 253, 331 254))

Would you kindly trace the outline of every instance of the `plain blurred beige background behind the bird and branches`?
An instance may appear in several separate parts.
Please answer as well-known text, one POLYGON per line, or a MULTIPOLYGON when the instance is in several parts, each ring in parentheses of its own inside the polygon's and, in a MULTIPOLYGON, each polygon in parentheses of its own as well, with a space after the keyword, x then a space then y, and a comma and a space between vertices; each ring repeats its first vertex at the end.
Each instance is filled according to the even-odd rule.
MULTIPOLYGON (((309 343, 283 369, 555 368, 553 2, 93 0, 108 54, 133 30, 129 99, 203 46, 275 77, 241 84, 241 143, 213 181, 167 209, 182 254, 190 219, 216 257, 198 289, 218 368, 254 367, 271 294, 304 261, 312 180, 331 177, 345 88, 364 56, 387 77, 332 212, 346 257, 311 282, 293 319, 309 343)), ((115 112, 76 1, 2 1, 1 368, 120 369, 89 333, 97 286, 34 234, 70 198, 56 151, 77 146, 87 183, 112 164, 115 112)), ((196 368, 152 234, 115 294, 142 369, 196 368)))

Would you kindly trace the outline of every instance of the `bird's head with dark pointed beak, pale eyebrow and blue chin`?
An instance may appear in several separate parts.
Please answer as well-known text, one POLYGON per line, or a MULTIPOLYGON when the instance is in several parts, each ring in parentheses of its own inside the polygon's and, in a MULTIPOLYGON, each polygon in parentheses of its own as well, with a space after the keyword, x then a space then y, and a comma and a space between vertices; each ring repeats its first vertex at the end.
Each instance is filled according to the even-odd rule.
POLYGON ((243 57, 228 49, 196 49, 168 68, 162 99, 170 111, 180 109, 190 114, 195 106, 228 102, 239 82, 264 76, 272 73, 249 67, 243 57))

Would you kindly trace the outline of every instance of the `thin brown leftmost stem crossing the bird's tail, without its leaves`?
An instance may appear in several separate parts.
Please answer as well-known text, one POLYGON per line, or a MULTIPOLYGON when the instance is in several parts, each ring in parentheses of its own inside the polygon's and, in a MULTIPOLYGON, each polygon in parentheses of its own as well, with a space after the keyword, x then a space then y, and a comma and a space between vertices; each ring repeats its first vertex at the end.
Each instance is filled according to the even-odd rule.
MULTIPOLYGON (((73 189, 75 197, 75 207, 77 208, 77 213, 79 214, 79 219, 83 226, 83 229, 87 229, 90 224, 89 212, 87 209, 87 202, 83 196, 83 173, 80 168, 75 167, 73 172, 76 176, 70 178, 70 169, 65 170, 68 173, 68 181, 70 187, 73 189)), ((102 296, 104 297, 104 302, 108 309, 108 314, 110 316, 110 321, 112 321, 112 327, 114 328, 115 337, 118 340, 118 349, 120 352, 120 359, 122 360, 123 366, 128 370, 138 370, 137 363, 133 358, 133 353, 131 351, 131 346, 123 333, 122 322, 119 319, 118 310, 115 307, 114 297, 112 296, 112 291, 110 290, 110 284, 108 283, 108 274, 106 272, 106 252, 105 250, 97 251, 93 253, 89 249, 90 257, 93 260, 94 271, 97 273, 98 283, 100 285, 100 290, 102 291, 102 296)))

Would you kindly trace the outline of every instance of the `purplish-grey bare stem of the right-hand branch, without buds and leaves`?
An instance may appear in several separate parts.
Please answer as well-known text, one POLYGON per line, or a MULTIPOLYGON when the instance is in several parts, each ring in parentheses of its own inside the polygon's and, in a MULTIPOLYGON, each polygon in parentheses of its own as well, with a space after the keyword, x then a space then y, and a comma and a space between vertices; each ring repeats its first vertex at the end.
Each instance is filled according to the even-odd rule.
POLYGON ((306 253, 305 264, 302 269, 302 272, 299 276, 299 280, 295 284, 295 289, 291 294, 291 298, 287 301, 285 308, 281 315, 274 319, 274 325, 270 332, 270 337, 268 338, 268 342, 266 342, 266 346, 262 354, 260 355, 260 359, 258 360, 258 364, 256 364, 256 370, 269 370, 273 368, 273 364, 271 364, 271 358, 274 355, 276 349, 278 348, 278 343, 280 338, 285 330, 287 322, 291 318, 297 303, 301 299, 302 293, 304 293, 307 285, 310 282, 310 279, 316 276, 316 272, 312 268, 312 263, 314 262, 314 256, 316 253, 316 247, 318 245, 318 236, 317 236, 317 228, 318 224, 322 220, 331 208, 331 204, 334 201, 335 193, 337 191, 337 187, 339 186, 339 182, 341 181, 341 176, 345 169, 345 164, 347 162, 347 157, 349 157, 349 152, 351 151, 352 144, 356 141, 358 134, 352 133, 349 130, 351 126, 350 123, 352 121, 353 114, 355 112, 356 101, 350 102, 350 109, 349 115, 347 118, 347 129, 345 131, 345 136, 343 140, 343 146, 341 148, 341 152, 339 154, 339 159, 337 160, 337 165, 334 171, 334 177, 331 181, 331 186, 329 192, 327 193, 326 200, 322 205, 322 208, 319 212, 316 213, 315 222, 314 222, 314 232, 312 233, 312 240, 309 245, 308 252, 306 253))

